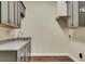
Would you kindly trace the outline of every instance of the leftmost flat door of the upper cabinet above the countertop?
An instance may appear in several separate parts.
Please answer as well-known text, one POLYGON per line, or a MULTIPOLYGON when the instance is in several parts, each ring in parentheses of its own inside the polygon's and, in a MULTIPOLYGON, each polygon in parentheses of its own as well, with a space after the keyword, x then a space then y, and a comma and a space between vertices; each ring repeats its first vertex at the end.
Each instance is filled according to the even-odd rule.
POLYGON ((8 23, 8 5, 9 2, 1 1, 1 23, 8 23))

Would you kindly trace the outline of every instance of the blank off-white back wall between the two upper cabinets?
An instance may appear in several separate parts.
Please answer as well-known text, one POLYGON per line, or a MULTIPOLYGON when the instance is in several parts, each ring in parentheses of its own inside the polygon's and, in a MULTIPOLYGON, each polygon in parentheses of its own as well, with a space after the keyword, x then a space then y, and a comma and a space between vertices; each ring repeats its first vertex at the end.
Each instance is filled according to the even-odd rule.
POLYGON ((56 23, 56 2, 24 2, 24 36, 31 36, 32 54, 68 53, 69 40, 56 23))

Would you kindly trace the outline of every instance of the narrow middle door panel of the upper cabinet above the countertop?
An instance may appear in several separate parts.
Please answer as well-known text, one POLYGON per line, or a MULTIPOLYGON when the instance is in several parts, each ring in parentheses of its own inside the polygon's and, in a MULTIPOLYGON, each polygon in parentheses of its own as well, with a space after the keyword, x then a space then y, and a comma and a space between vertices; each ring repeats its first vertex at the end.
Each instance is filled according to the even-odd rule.
POLYGON ((9 10, 9 21, 10 21, 10 24, 11 25, 14 25, 14 16, 15 16, 15 13, 14 13, 14 11, 15 11, 15 8, 14 8, 14 1, 10 1, 10 3, 9 3, 9 8, 10 8, 10 10, 9 10))

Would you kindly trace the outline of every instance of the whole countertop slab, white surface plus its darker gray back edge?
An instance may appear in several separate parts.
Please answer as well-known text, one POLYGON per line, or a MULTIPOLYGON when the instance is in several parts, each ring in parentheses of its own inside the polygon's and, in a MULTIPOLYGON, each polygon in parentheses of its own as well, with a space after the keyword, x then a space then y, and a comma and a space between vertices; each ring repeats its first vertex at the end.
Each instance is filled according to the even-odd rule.
POLYGON ((31 41, 31 38, 12 38, 1 41, 0 51, 17 51, 31 41), (3 43, 2 43, 3 42, 3 43), (5 42, 5 43, 4 43, 5 42))

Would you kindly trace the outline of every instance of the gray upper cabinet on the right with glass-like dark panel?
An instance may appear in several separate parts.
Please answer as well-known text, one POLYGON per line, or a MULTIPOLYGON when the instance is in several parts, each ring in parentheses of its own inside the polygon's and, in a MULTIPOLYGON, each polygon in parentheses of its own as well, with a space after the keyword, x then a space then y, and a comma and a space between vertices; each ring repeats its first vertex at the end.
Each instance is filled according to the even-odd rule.
POLYGON ((67 14, 69 27, 85 26, 85 2, 69 1, 67 2, 67 14), (83 5, 83 7, 82 7, 83 5), (83 12, 84 11, 84 12, 83 12))

